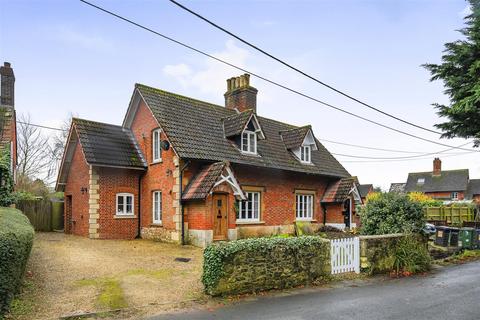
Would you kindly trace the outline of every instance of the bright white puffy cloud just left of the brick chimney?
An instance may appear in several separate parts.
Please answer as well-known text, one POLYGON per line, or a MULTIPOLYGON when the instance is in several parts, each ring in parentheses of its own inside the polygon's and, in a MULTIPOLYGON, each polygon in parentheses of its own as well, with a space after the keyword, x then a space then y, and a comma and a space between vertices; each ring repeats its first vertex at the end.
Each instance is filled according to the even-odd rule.
MULTIPOLYGON (((233 40, 228 40, 225 43, 225 49, 214 52, 212 55, 242 68, 246 68, 247 60, 251 56, 248 50, 238 47, 233 40)), ((166 65, 163 68, 163 73, 185 88, 194 88, 203 94, 217 97, 219 92, 225 91, 226 79, 240 74, 240 71, 206 58, 197 70, 193 70, 191 66, 185 63, 179 63, 166 65)))

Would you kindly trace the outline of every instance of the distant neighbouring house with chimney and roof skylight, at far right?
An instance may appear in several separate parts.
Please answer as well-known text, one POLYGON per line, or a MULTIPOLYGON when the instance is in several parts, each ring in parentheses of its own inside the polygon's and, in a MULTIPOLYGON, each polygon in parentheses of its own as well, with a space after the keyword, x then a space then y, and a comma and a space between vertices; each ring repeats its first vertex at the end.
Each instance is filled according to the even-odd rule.
POLYGON ((470 179, 468 169, 442 170, 442 161, 435 158, 433 171, 408 174, 403 192, 423 192, 433 199, 445 201, 479 201, 479 181, 480 179, 470 179))

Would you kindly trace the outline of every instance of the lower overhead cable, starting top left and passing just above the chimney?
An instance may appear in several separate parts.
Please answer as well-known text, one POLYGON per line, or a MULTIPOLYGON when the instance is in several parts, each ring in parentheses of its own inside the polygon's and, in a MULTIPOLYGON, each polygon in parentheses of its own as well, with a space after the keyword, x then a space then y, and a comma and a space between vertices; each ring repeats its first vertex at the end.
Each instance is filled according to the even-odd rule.
MULTIPOLYGON (((261 79, 261 80, 263 80, 263 81, 265 81, 265 82, 268 82, 268 83, 270 83, 270 84, 273 84, 273 85, 275 85, 275 86, 277 86, 277 87, 279 87, 279 88, 282 88, 282 89, 284 89, 284 90, 290 91, 290 92, 292 92, 292 93, 295 93, 295 94, 297 94, 297 95, 299 95, 299 96, 302 96, 302 97, 304 97, 304 98, 307 98, 307 99, 309 99, 309 100, 312 100, 312 101, 315 101, 315 102, 317 102, 317 103, 320 103, 320 104, 322 104, 322 105, 324 105, 324 106, 326 106, 326 107, 329 107, 329 108, 335 109, 335 110, 337 110, 337 111, 343 112, 343 113, 348 114, 348 115, 350 115, 350 116, 352 116, 352 117, 355 117, 355 118, 358 118, 358 119, 367 121, 367 122, 369 122, 369 123, 375 124, 375 125, 377 125, 377 126, 380 126, 380 127, 385 128, 385 129, 388 129, 388 130, 391 130, 391 131, 395 131, 395 132, 397 132, 397 133, 401 133, 401 134, 407 135, 407 136, 409 136, 409 137, 411 137, 411 138, 415 138, 415 139, 422 140, 422 141, 425 141, 425 142, 430 142, 430 143, 433 143, 433 144, 437 144, 437 145, 444 146, 444 147, 449 147, 449 148, 455 148, 455 149, 460 149, 460 150, 472 151, 471 149, 458 148, 458 147, 451 146, 451 145, 448 145, 448 144, 445 144, 445 143, 441 143, 441 142, 438 142, 438 141, 434 141, 434 140, 430 140, 430 139, 427 139, 427 138, 423 138, 423 137, 420 137, 420 136, 417 136, 417 135, 414 135, 414 134, 411 134, 411 133, 408 133, 408 132, 405 132, 405 131, 402 131, 402 130, 399 130, 399 129, 396 129, 396 128, 389 127, 389 126, 384 125, 384 124, 381 124, 381 123, 379 123, 379 122, 377 122, 377 121, 370 120, 370 119, 368 119, 368 118, 366 118, 366 117, 357 115, 357 114, 355 114, 355 113, 353 113, 353 112, 344 110, 344 109, 342 109, 342 108, 340 108, 340 107, 336 107, 336 106, 334 106, 334 105, 332 105, 332 104, 329 104, 329 103, 327 103, 327 102, 321 101, 321 100, 319 100, 319 99, 317 99, 317 98, 314 98, 314 97, 312 97, 312 96, 309 96, 309 95, 307 95, 307 94, 305 94, 305 93, 302 93, 302 92, 300 92, 300 91, 298 91, 298 90, 289 88, 289 87, 287 87, 286 85, 280 84, 280 83, 278 83, 278 82, 276 82, 276 81, 273 81, 273 80, 270 80, 270 79, 268 79, 268 78, 266 78, 266 77, 264 77, 264 76, 261 76, 261 75, 259 75, 259 74, 253 73, 253 72, 251 72, 251 71, 249 71, 249 70, 247 70, 247 69, 245 69, 245 68, 238 67, 238 66, 236 66, 236 65, 234 65, 234 64, 232 64, 232 63, 230 63, 230 62, 228 62, 228 61, 225 61, 225 60, 222 60, 222 59, 220 59, 220 58, 217 58, 217 57, 215 57, 215 56, 213 56, 213 55, 211 55, 211 54, 209 54, 209 53, 206 53, 206 52, 204 52, 204 51, 202 51, 202 50, 200 50, 200 49, 196 49, 196 48, 194 48, 194 47, 192 47, 192 46, 190 46, 190 45, 188 45, 188 44, 185 44, 185 43, 183 43, 183 42, 181 42, 181 41, 179 41, 179 40, 176 40, 176 39, 174 39, 174 38, 172 38, 172 37, 166 36, 166 35, 158 32, 158 31, 155 31, 155 30, 153 30, 153 29, 150 29, 150 28, 148 28, 148 27, 146 27, 146 26, 144 26, 144 25, 141 25, 141 24, 139 24, 139 23, 137 23, 137 22, 135 22, 135 21, 132 21, 132 20, 130 20, 130 19, 128 19, 128 18, 125 18, 125 17, 123 17, 123 16, 120 16, 120 15, 118 15, 118 14, 116 14, 116 13, 114 13, 114 12, 111 12, 111 11, 109 11, 109 10, 107 10, 107 9, 104 9, 104 8, 102 8, 102 7, 99 7, 99 6, 97 6, 97 5, 93 4, 93 3, 90 3, 90 2, 85 1, 85 0, 79 0, 79 1, 81 1, 81 2, 83 2, 83 3, 85 3, 85 4, 89 5, 89 6, 91 6, 91 7, 95 8, 95 9, 97 9, 97 10, 100 10, 100 11, 102 11, 102 12, 105 12, 105 13, 113 16, 113 17, 116 17, 116 18, 118 18, 118 19, 120 19, 120 20, 123 20, 123 21, 125 21, 125 22, 127 22, 127 23, 129 23, 129 24, 132 24, 132 25, 134 25, 134 26, 136 26, 136 27, 138 27, 138 28, 140 28, 140 29, 146 30, 146 31, 148 31, 148 32, 150 32, 150 33, 153 33, 153 34, 155 34, 155 35, 157 35, 157 36, 159 36, 159 37, 162 37, 162 38, 164 38, 164 39, 166 39, 166 40, 168 40, 168 41, 171 41, 171 42, 173 42, 173 43, 176 43, 176 44, 178 44, 178 45, 180 45, 180 46, 182 46, 182 47, 185 47, 185 48, 187 48, 187 49, 190 49, 190 50, 192 50, 192 51, 195 51, 195 52, 197 52, 197 53, 199 53, 199 54, 201 54, 201 55, 204 55, 204 56, 206 56, 206 57, 208 57, 208 58, 210 58, 210 59, 213 59, 213 60, 216 60, 216 61, 218 61, 218 62, 221 62, 221 63, 223 63, 223 64, 225 64, 225 65, 228 65, 228 66, 230 66, 230 67, 232 67, 232 68, 235 68, 235 69, 237 69, 237 70, 240 70, 240 71, 242 71, 242 72, 249 73, 249 74, 251 74, 252 76, 254 76, 254 77, 256 77, 256 78, 261 79)), ((473 151, 473 152, 480 152, 480 150, 478 150, 478 151, 473 151)))

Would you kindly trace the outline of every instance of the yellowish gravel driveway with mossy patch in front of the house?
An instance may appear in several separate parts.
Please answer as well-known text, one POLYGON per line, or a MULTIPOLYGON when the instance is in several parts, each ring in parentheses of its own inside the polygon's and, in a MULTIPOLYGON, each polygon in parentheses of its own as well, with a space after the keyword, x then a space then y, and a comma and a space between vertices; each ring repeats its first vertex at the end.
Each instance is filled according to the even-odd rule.
POLYGON ((123 318, 171 311, 205 300, 201 272, 202 250, 192 246, 38 233, 23 293, 9 318, 108 316, 118 309, 123 318))

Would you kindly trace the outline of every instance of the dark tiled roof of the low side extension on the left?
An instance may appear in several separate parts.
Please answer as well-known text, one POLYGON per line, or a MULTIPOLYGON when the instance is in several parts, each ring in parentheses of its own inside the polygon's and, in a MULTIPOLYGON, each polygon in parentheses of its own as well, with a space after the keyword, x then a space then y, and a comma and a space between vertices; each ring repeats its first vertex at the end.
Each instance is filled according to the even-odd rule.
POLYGON ((72 119, 87 162, 112 167, 146 167, 130 129, 84 119, 72 119))

